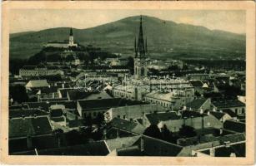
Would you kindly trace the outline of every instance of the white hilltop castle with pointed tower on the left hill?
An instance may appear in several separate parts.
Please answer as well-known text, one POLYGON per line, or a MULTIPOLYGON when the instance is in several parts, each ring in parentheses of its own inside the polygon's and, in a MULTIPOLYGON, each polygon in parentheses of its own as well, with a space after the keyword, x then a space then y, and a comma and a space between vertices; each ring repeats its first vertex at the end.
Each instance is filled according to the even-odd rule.
POLYGON ((73 41, 73 29, 70 28, 68 41, 48 41, 46 47, 68 48, 70 46, 78 47, 77 43, 73 41))

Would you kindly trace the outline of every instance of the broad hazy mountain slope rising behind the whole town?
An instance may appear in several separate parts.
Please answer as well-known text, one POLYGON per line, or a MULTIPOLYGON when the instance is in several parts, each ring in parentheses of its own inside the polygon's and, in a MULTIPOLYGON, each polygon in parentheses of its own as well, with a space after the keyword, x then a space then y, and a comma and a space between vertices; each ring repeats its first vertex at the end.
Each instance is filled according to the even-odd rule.
MULTIPOLYGON (((71 25, 72 26, 72 25, 71 25)), ((138 37, 139 17, 127 17, 88 29, 73 29, 74 40, 92 44, 107 51, 133 56, 135 35, 138 37)), ((245 35, 209 30, 188 24, 163 21, 143 16, 144 36, 151 56, 176 58, 241 58, 245 57, 245 35)), ((58 27, 10 37, 11 58, 28 58, 40 51, 47 41, 68 39, 69 28, 58 27)))

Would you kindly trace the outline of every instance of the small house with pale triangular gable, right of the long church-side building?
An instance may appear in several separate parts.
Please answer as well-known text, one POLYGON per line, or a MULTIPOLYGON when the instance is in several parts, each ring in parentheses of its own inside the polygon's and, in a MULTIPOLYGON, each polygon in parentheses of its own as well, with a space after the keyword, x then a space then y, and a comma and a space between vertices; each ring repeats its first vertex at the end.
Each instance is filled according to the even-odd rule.
POLYGON ((211 108, 211 100, 210 99, 204 99, 204 98, 198 98, 186 105, 188 110, 195 110, 195 111, 205 111, 210 110, 211 108))

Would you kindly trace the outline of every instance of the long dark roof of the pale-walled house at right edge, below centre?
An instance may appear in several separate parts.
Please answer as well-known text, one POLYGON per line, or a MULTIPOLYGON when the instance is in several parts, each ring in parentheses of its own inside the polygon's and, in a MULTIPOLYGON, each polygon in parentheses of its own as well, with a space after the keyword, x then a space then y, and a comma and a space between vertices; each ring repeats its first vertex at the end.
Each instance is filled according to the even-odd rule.
POLYGON ((218 109, 245 106, 244 103, 239 100, 214 100, 212 104, 218 109))

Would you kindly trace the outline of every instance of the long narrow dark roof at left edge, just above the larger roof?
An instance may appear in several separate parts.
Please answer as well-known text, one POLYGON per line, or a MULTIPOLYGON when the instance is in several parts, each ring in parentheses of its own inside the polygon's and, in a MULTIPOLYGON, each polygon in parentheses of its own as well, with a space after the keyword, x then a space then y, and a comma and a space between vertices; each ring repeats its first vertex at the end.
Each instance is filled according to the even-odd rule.
POLYGON ((48 113, 39 109, 28 109, 28 110, 9 110, 9 118, 22 118, 28 116, 43 116, 48 115, 48 113))

